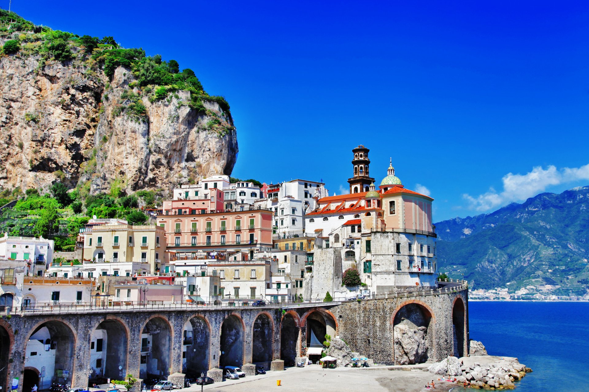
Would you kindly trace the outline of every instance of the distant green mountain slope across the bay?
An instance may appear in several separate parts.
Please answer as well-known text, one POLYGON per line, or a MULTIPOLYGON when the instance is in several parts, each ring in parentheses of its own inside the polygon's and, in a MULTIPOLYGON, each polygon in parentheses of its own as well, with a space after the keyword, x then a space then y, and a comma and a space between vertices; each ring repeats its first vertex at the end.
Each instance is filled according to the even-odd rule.
POLYGON ((589 186, 541 193, 495 212, 436 223, 440 270, 474 288, 589 289, 589 186))

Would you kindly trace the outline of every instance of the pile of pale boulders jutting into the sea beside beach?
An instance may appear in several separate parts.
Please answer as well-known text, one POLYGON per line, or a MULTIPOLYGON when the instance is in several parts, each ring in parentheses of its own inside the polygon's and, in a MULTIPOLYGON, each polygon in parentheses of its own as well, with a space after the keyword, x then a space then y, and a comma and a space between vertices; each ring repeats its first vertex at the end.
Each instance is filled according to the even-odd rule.
POLYGON ((448 357, 429 366, 430 373, 471 388, 513 389, 514 381, 532 371, 514 357, 448 357))

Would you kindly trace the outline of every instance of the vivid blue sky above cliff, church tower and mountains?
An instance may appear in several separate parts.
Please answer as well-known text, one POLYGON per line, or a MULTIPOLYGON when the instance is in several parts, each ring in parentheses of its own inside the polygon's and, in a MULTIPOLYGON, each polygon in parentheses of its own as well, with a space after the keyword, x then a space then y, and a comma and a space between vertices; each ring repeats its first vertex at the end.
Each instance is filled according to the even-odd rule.
POLYGON ((323 179, 339 194, 350 149, 363 144, 377 180, 392 156, 406 187, 429 191, 435 221, 589 185, 589 3, 448 3, 14 0, 12 9, 193 69, 231 105, 237 177, 323 179))

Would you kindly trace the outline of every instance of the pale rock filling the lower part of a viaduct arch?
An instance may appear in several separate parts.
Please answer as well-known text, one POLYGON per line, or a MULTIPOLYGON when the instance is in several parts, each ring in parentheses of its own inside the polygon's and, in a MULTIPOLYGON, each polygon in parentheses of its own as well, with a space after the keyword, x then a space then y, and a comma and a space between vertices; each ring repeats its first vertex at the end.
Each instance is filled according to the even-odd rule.
POLYGON ((428 360, 426 327, 412 328, 401 323, 394 327, 395 363, 401 365, 423 363, 428 360))

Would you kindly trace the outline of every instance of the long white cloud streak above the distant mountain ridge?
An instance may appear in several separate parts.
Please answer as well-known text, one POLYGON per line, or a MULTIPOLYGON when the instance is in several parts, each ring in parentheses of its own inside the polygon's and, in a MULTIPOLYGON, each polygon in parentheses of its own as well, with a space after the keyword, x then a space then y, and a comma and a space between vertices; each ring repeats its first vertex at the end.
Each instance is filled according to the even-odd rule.
POLYGON ((562 169, 557 169, 552 165, 546 169, 536 166, 525 175, 507 173, 503 176, 502 192, 491 188, 489 192, 482 195, 473 197, 465 193, 462 197, 469 202, 471 209, 487 211, 494 207, 533 197, 544 192, 549 186, 580 180, 589 180, 589 165, 563 167, 562 169))

